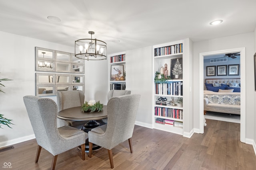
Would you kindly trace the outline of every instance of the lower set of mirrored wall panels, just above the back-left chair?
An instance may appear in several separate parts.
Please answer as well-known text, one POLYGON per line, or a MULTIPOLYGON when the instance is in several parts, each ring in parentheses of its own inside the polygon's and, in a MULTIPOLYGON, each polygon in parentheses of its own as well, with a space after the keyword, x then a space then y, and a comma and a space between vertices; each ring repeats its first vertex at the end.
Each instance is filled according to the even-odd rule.
POLYGON ((36 95, 54 96, 58 91, 84 91, 84 75, 36 73, 36 95))

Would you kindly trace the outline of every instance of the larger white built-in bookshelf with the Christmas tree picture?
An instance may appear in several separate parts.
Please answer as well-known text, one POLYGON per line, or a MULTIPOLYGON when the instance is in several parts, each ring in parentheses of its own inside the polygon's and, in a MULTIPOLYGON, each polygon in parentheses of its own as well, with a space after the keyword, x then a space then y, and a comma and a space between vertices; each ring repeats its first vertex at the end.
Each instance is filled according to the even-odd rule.
POLYGON ((183 135, 183 41, 154 45, 153 110, 155 129, 183 135))

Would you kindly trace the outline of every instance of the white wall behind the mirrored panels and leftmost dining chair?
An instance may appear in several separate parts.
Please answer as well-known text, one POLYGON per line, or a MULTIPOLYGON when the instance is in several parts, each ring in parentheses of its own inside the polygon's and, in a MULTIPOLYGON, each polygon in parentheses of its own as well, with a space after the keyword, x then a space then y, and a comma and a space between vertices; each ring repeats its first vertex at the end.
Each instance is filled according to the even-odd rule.
MULTIPOLYGON (((7 126, 0 129, 0 147, 4 147, 34 138, 23 96, 36 94, 35 47, 68 53, 74 53, 74 47, 1 31, 0 37, 0 78, 12 79, 12 81, 2 82, 6 86, 2 88, 6 94, 0 93, 0 114, 4 114, 4 117, 8 119, 13 119, 12 123, 15 124, 12 125, 12 129, 7 126)), ((86 100, 94 98, 106 104, 107 78, 107 61, 85 62, 86 100)), ((56 102, 56 96, 48 98, 52 98, 56 102)))

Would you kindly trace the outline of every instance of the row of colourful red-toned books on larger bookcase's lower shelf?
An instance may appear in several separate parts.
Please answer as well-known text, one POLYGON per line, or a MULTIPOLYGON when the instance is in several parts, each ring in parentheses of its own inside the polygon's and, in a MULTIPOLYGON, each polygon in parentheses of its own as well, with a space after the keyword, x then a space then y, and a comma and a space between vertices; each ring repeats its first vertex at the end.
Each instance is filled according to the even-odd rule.
POLYGON ((155 107, 155 115, 162 117, 171 117, 175 119, 183 119, 183 110, 167 107, 155 107))

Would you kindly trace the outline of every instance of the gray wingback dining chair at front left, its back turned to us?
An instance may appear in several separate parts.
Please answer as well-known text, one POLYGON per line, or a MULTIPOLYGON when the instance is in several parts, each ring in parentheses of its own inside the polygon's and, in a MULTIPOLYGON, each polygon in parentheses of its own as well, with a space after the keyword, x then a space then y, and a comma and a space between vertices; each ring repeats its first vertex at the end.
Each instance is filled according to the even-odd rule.
POLYGON ((71 126, 57 128, 57 105, 52 99, 24 96, 23 100, 38 143, 35 163, 42 148, 53 155, 52 170, 55 169, 58 154, 78 146, 81 146, 82 160, 85 160, 88 134, 71 126))

